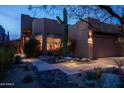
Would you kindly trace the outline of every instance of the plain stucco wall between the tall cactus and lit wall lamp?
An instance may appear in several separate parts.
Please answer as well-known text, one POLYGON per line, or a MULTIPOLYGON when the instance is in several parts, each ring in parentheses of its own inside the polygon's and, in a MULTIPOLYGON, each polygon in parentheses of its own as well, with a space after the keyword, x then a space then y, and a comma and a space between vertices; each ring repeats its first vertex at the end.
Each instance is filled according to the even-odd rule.
POLYGON ((69 39, 76 42, 73 54, 77 57, 88 57, 88 25, 76 23, 69 28, 69 39))

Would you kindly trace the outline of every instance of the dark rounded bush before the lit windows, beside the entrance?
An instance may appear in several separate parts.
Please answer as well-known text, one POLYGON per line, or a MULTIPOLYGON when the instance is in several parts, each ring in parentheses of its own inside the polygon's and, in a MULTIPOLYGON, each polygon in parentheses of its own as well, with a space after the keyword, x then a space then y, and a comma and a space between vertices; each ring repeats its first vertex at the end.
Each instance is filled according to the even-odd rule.
POLYGON ((27 57, 36 57, 38 56, 40 50, 40 42, 36 39, 30 39, 24 44, 24 53, 27 57))

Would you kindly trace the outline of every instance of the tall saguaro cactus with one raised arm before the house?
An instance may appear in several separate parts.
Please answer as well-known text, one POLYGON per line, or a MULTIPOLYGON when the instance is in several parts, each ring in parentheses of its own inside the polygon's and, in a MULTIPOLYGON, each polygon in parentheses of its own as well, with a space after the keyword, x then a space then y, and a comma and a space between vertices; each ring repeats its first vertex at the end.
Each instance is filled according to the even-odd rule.
POLYGON ((67 44, 68 44, 68 18, 67 18, 67 9, 63 9, 63 21, 59 16, 56 17, 60 24, 63 25, 62 32, 62 46, 63 46, 63 56, 67 54, 67 44))

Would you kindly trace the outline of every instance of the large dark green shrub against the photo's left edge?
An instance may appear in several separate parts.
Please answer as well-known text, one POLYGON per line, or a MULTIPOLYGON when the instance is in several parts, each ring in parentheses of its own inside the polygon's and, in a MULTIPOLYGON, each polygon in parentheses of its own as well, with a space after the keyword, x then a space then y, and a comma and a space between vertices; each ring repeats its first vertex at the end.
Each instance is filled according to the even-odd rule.
POLYGON ((13 61, 15 49, 13 47, 1 47, 0 48, 0 79, 2 79, 13 61))

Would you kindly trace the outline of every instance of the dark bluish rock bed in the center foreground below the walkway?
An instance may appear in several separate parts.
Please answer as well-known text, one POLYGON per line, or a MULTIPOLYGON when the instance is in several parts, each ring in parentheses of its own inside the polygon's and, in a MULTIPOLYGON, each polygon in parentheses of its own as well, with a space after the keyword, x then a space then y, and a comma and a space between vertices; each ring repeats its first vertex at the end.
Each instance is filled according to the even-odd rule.
POLYGON ((44 88, 64 88, 78 87, 77 84, 70 82, 69 77, 61 70, 41 71, 38 81, 41 87, 44 88))

